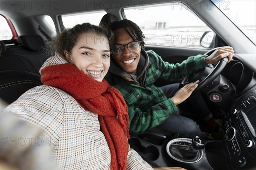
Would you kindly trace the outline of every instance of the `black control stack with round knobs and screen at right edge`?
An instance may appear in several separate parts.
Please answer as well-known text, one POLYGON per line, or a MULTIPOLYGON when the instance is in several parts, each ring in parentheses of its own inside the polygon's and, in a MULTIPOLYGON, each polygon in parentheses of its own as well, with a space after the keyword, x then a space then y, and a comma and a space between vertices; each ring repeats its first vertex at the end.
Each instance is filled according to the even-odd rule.
POLYGON ((224 148, 232 169, 256 169, 256 90, 242 96, 223 121, 224 148))

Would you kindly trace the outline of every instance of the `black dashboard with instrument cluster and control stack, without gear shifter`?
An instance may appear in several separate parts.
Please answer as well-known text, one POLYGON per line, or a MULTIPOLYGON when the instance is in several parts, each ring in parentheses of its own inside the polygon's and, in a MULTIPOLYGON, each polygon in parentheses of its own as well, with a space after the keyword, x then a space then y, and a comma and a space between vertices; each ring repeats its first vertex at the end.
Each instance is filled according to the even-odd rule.
POLYGON ((222 139, 231 169, 256 168, 255 58, 255 54, 235 55, 208 90, 204 89, 224 113, 222 139))

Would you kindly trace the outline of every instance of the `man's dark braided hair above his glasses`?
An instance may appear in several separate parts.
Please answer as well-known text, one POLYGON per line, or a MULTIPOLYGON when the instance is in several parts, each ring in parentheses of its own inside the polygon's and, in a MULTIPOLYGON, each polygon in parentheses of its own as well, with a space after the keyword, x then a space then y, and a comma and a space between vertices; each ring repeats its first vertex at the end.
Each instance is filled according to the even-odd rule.
POLYGON ((110 28, 112 31, 115 31, 116 29, 125 28, 126 32, 130 35, 132 40, 134 41, 141 41, 142 48, 145 48, 145 42, 144 38, 145 35, 141 31, 140 27, 132 22, 131 20, 121 20, 121 21, 114 21, 111 23, 110 28), (128 31, 127 28, 130 28, 131 31, 128 31))

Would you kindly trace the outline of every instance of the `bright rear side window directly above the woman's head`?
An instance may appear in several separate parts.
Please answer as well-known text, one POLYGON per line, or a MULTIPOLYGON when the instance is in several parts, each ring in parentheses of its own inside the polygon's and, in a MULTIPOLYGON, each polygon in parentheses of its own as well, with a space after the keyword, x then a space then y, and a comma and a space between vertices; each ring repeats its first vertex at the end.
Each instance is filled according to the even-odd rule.
POLYGON ((102 17, 107 14, 106 11, 86 12, 79 14, 61 15, 61 19, 65 28, 73 28, 77 24, 91 23, 98 26, 102 17))

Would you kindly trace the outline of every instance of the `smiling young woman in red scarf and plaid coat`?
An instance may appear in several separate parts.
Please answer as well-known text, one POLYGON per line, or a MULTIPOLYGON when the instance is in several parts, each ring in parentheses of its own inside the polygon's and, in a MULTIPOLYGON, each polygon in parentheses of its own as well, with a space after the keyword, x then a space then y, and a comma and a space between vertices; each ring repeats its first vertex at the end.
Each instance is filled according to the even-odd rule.
POLYGON ((43 85, 6 109, 44 131, 60 169, 152 169, 130 149, 128 108, 104 79, 112 42, 112 32, 89 23, 65 30, 40 70, 43 85))

